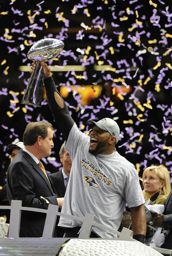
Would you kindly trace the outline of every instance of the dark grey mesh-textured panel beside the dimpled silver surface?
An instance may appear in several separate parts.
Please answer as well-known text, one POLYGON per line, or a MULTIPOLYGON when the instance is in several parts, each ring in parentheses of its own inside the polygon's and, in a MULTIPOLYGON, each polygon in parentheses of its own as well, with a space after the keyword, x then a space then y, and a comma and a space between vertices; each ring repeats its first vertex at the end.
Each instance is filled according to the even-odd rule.
POLYGON ((1 256, 55 256, 66 238, 0 238, 1 256))

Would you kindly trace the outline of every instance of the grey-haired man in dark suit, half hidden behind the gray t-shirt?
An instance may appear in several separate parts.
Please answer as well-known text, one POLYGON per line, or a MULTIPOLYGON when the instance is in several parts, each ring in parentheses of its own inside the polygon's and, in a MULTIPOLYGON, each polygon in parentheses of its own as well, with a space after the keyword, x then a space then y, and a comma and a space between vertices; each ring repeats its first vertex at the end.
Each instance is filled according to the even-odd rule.
POLYGON ((66 192, 66 186, 70 176, 70 170, 72 167, 71 158, 68 151, 64 148, 64 143, 60 148, 59 156, 60 161, 63 165, 63 169, 56 173, 49 174, 49 177, 51 178, 52 183, 55 187, 56 194, 58 194, 59 197, 64 197, 66 192))

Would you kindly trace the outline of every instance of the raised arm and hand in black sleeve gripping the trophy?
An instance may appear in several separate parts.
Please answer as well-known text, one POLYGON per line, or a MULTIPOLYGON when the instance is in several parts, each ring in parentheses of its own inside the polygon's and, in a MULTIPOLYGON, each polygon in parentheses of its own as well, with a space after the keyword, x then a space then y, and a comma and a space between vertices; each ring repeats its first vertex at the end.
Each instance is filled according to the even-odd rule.
MULTIPOLYGON (((63 134, 65 140, 67 140, 70 130, 74 124, 74 120, 69 114, 68 107, 66 103, 62 99, 61 95, 59 94, 53 78, 50 73, 50 68, 48 65, 41 61, 41 66, 44 70, 44 85, 46 90, 46 97, 48 101, 49 108, 52 112, 53 118, 56 124, 59 126, 60 131, 63 134)), ((32 63, 31 69, 34 69, 35 62, 32 63)), ((33 71, 30 71, 32 73, 33 71)))

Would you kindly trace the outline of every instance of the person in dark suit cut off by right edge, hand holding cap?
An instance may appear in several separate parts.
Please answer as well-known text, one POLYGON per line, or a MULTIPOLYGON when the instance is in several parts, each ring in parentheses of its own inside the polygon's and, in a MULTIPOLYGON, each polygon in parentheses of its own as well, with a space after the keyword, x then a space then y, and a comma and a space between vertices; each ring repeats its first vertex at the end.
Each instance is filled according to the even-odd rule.
POLYGON ((165 242, 161 245, 161 248, 172 250, 172 190, 164 203, 164 213, 156 213, 156 216, 152 218, 154 225, 157 227, 169 230, 170 233, 165 238, 165 242))

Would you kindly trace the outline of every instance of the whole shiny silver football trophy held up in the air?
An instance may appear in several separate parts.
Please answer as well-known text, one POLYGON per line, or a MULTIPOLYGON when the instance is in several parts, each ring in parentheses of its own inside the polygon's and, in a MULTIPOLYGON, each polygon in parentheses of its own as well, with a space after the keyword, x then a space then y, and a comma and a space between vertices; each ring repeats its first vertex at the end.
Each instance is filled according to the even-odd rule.
POLYGON ((37 62, 21 103, 41 107, 44 84, 44 70, 41 67, 41 61, 54 59, 63 47, 64 43, 58 39, 44 38, 34 43, 30 48, 27 57, 30 60, 37 60, 37 62))

